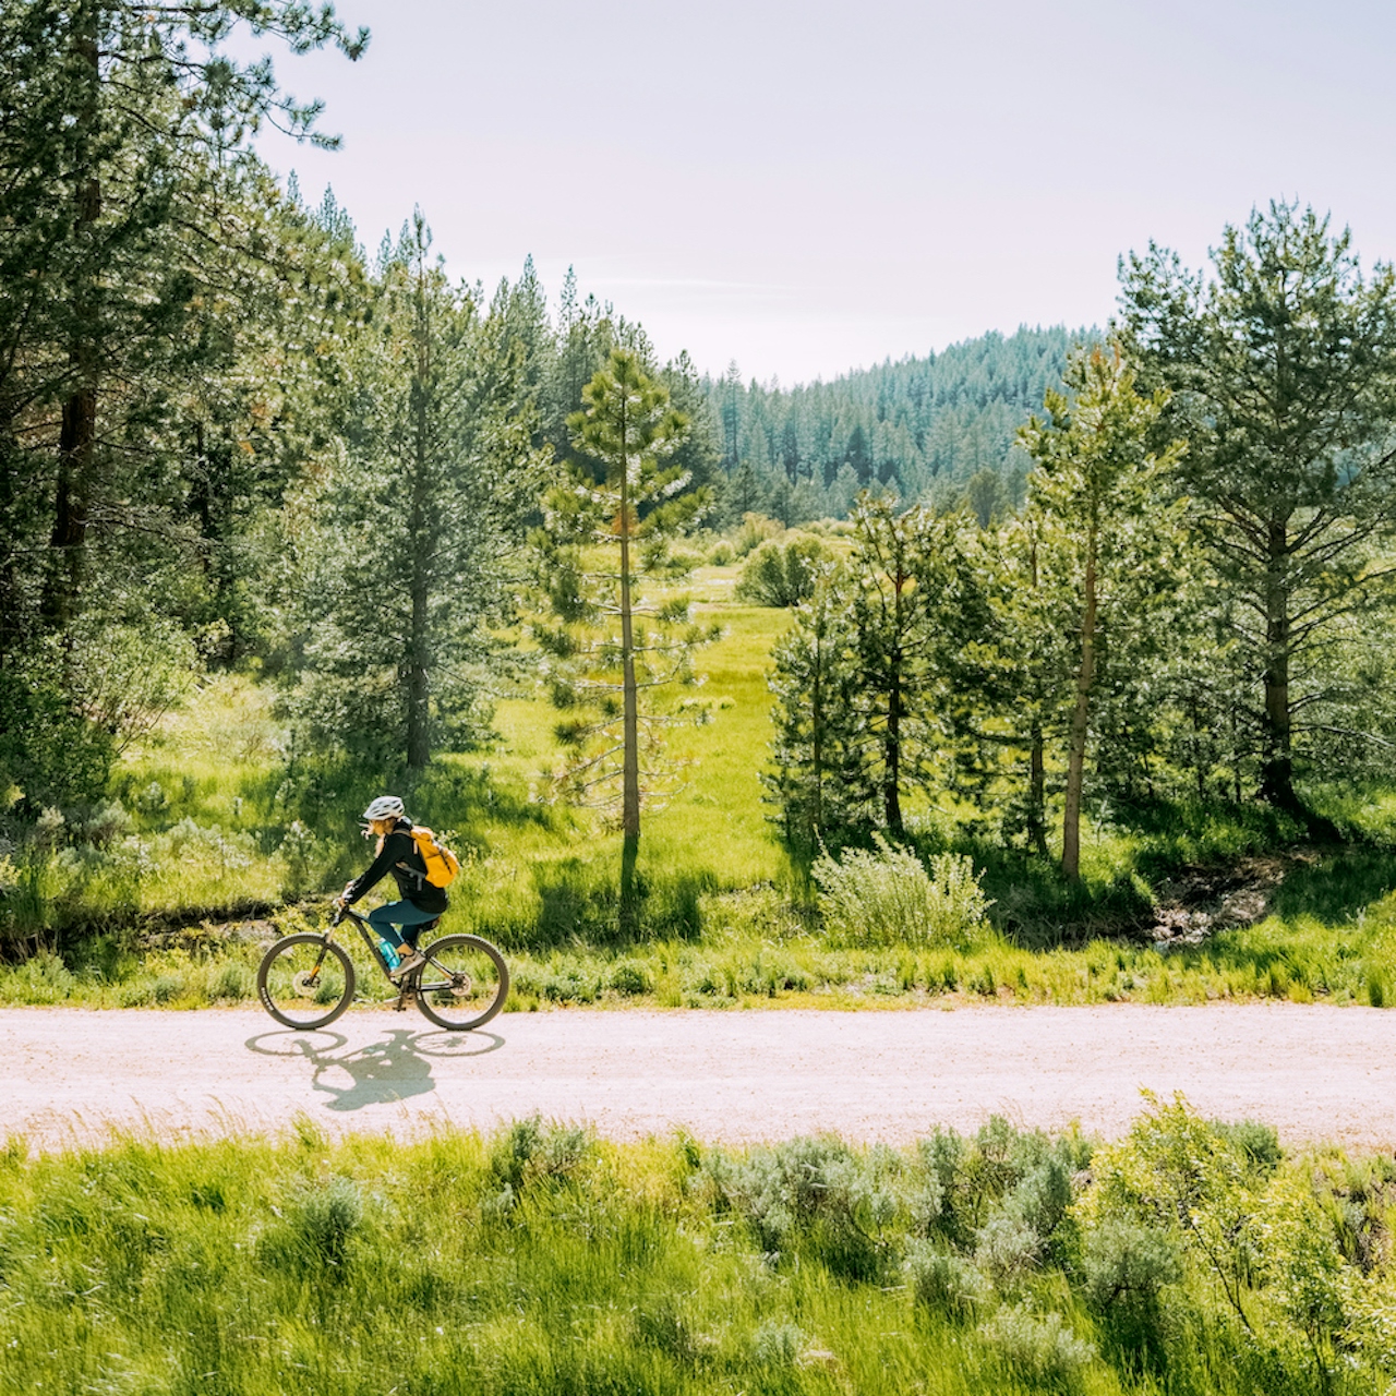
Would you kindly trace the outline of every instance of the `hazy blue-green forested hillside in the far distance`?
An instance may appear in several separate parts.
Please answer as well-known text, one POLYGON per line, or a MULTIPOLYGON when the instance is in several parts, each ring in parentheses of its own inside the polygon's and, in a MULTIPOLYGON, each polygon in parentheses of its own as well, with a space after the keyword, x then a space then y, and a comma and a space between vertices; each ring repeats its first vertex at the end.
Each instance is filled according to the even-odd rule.
POLYGON ((863 490, 941 510, 970 498, 986 522, 1019 508, 1030 462, 1018 429, 1061 385, 1072 345, 1096 339, 1023 327, 796 388, 743 384, 729 364, 702 380, 726 511, 842 519, 863 490))

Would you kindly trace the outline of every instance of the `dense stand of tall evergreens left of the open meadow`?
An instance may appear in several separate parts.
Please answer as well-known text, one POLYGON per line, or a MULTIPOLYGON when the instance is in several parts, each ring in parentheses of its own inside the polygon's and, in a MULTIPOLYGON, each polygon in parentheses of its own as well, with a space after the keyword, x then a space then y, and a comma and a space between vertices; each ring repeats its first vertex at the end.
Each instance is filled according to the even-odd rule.
MULTIPOLYGON (((0 790, 32 817, 95 797, 194 678, 255 666, 292 768, 420 769, 480 730, 568 419, 628 350, 685 423, 676 479, 718 473, 701 380, 575 278, 452 282, 420 214, 376 253, 251 137, 315 103, 242 25, 356 59, 331 6, 0 8, 0 790), (687 413, 687 416, 685 416, 687 413)), ((702 496, 706 498, 706 496, 702 496)))

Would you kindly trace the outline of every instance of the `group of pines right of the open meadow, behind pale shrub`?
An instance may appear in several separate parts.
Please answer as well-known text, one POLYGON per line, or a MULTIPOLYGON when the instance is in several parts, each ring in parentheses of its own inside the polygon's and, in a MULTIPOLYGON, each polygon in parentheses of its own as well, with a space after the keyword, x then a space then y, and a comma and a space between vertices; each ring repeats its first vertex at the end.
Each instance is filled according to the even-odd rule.
POLYGON ((796 843, 979 807, 1079 875, 1083 803, 1389 778, 1396 275, 1272 204, 1210 275, 1150 246, 1107 348, 1018 433, 1018 514, 866 493, 776 651, 772 796, 796 843))

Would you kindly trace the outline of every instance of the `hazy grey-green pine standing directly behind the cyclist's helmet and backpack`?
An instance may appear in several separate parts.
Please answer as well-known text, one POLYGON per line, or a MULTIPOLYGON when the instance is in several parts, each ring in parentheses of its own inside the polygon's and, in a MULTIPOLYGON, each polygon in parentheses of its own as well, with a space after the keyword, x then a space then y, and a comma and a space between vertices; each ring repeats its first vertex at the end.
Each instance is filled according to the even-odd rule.
POLYGON ((417 212, 385 246, 345 350, 343 434, 296 501, 313 519, 297 726, 385 772, 420 772, 440 741, 480 730, 505 560, 544 459, 507 315, 482 315, 430 244, 417 212))

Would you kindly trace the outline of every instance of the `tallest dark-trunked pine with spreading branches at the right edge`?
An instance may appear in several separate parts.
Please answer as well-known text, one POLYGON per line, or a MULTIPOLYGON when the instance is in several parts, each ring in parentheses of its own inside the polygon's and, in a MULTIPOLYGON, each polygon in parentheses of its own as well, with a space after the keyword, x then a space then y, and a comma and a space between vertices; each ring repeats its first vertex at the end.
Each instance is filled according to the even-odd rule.
POLYGON ((1365 279, 1346 229, 1272 202, 1224 230, 1212 279, 1150 244, 1121 282, 1129 350, 1173 391, 1194 525, 1259 678, 1261 792, 1311 818, 1295 751, 1343 727, 1325 715, 1323 652, 1349 616, 1388 606, 1396 579, 1382 561, 1396 536, 1396 271, 1365 279))

